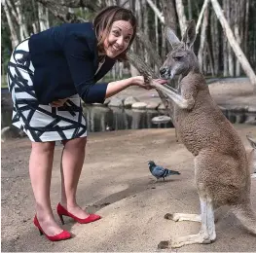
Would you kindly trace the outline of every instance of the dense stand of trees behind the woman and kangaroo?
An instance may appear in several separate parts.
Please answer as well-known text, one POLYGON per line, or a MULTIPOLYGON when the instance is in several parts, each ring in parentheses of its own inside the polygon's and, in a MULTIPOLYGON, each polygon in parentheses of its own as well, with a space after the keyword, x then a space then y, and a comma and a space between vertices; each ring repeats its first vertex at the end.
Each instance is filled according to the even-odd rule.
POLYGON ((122 78, 124 74, 136 74, 139 67, 137 61, 132 61, 132 55, 138 56, 157 73, 169 50, 165 25, 180 35, 187 20, 192 18, 199 25, 194 50, 205 76, 238 77, 250 74, 251 80, 253 74, 255 77, 256 0, 2 0, 2 76, 6 73, 13 49, 26 37, 62 22, 91 21, 99 10, 109 5, 131 9, 138 18, 139 26, 129 63, 117 63, 111 72, 112 79, 122 78), (228 31, 217 17, 214 2, 221 6, 234 41, 245 59, 238 60, 228 39, 228 31), (241 60, 247 60, 251 69, 246 62, 246 67, 240 64, 241 60))

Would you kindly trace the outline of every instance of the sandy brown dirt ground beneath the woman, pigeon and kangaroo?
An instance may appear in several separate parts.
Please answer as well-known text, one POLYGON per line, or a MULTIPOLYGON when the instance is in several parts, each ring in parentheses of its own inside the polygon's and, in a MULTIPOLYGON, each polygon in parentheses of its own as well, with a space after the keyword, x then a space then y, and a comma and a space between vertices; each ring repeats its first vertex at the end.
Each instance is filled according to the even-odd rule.
MULTIPOLYGON (((248 90, 245 94, 238 92, 236 95, 227 90, 230 96, 228 93, 225 95, 224 90, 213 89, 213 92, 219 93, 215 98, 220 104, 221 101, 227 103, 227 97, 230 101, 237 99, 241 103, 245 103, 247 97, 249 105, 254 105, 256 101, 248 90)), ((150 96, 151 90, 148 92, 145 97, 150 96)), ((256 127, 235 127, 245 147, 249 147, 245 135, 251 133, 256 136, 256 127)), ((64 218, 64 228, 74 235, 66 241, 50 242, 45 236, 40 236, 32 224, 34 199, 28 175, 29 153, 30 142, 27 138, 2 143, 2 251, 160 251, 157 245, 161 240, 168 240, 173 235, 195 234, 200 230, 200 224, 195 222, 175 223, 164 219, 166 212, 200 211, 193 156, 175 141, 173 129, 89 134, 78 201, 103 218, 87 225, 64 218), (181 175, 156 183, 147 166, 149 160, 179 170, 181 175)), ((54 212, 60 192, 60 154, 61 146, 57 145, 51 189, 54 212)), ((252 179, 251 199, 256 209, 256 179, 252 179)), ((255 251, 255 236, 242 229, 231 212, 223 209, 218 216, 217 240, 214 243, 184 246, 178 251, 255 251)), ((55 217, 60 224, 56 212, 55 217)))

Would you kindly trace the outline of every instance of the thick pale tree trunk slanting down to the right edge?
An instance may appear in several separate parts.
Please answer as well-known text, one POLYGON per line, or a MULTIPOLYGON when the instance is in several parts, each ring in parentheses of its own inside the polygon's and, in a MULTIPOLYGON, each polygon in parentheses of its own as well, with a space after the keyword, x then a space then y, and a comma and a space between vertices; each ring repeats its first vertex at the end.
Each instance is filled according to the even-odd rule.
POLYGON ((253 85, 253 90, 256 92, 256 75, 255 75, 254 71, 252 70, 250 63, 248 62, 246 56, 241 51, 241 49, 238 45, 238 42, 235 39, 233 31, 232 31, 229 23, 227 22, 227 19, 224 17, 224 15, 222 13, 222 10, 221 10, 221 7, 220 7, 218 1, 211 0, 211 3, 212 3, 212 7, 216 13, 217 18, 219 18, 222 28, 224 29, 224 31, 226 33, 229 43, 239 59, 239 62, 241 64, 243 71, 250 79, 250 82, 253 85))

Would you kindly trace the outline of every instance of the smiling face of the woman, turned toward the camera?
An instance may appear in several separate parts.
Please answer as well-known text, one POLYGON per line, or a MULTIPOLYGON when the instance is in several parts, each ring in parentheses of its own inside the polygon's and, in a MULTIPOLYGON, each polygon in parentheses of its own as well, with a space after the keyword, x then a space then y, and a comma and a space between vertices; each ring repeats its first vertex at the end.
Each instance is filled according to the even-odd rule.
POLYGON ((124 52, 128 48, 132 34, 133 28, 129 21, 114 21, 109 35, 103 43, 105 54, 114 58, 124 52))

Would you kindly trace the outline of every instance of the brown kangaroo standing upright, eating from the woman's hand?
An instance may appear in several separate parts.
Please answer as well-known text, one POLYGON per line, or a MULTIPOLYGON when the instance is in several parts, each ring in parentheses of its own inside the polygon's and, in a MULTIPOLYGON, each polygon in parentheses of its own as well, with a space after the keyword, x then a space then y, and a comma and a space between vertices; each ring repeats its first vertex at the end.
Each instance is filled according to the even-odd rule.
POLYGON ((189 22, 180 41, 166 28, 166 38, 172 47, 160 68, 161 78, 180 75, 177 90, 150 81, 174 103, 174 125, 178 138, 195 156, 195 176, 201 203, 201 214, 166 214, 173 221, 201 222, 197 235, 185 235, 162 241, 159 248, 181 247, 193 243, 211 243, 216 239, 214 210, 229 205, 242 225, 256 235, 256 214, 250 203, 250 162, 236 129, 223 115, 201 74, 192 46, 196 39, 196 24, 189 22))

